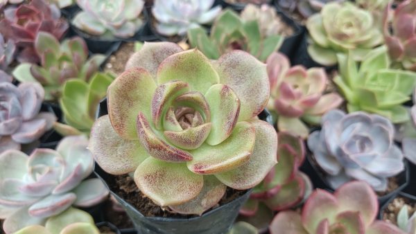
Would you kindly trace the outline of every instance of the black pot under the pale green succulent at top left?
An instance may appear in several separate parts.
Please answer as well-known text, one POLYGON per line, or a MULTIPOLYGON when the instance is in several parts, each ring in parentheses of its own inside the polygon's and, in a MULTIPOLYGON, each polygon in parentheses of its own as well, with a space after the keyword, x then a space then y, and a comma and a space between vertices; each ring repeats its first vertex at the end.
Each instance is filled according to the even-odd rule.
POLYGON ((89 35, 87 33, 84 33, 82 30, 79 30, 76 28, 76 26, 73 26, 71 24, 71 21, 73 17, 76 15, 76 12, 72 14, 72 17, 68 19, 69 21, 69 28, 70 33, 69 35, 77 35, 79 37, 83 37, 85 39, 85 42, 87 43, 88 50, 91 53, 102 53, 107 56, 109 56, 112 52, 116 51, 117 48, 119 48, 121 42, 136 42, 141 41, 141 37, 144 37, 144 35, 147 34, 147 28, 148 28, 148 12, 146 8, 143 8, 142 15, 143 15, 143 25, 135 35, 133 35, 130 38, 119 38, 119 37, 98 37, 89 35))

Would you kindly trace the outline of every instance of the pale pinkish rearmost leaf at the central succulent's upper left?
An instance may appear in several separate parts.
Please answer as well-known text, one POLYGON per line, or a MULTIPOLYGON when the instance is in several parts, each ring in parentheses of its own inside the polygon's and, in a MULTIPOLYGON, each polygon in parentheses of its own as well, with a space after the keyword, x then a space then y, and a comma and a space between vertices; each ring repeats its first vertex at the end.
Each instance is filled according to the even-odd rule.
POLYGON ((183 51, 180 46, 172 42, 145 42, 125 64, 125 70, 132 68, 146 69, 156 78, 157 67, 166 57, 183 51))

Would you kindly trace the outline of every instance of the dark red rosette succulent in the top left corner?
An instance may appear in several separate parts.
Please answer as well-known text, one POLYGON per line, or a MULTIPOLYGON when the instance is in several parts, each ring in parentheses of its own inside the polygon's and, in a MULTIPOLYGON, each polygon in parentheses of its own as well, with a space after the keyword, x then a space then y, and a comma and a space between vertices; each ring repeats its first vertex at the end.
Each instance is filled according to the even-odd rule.
POLYGON ((12 39, 19 48, 19 62, 40 61, 34 48, 39 32, 51 33, 56 39, 61 39, 67 29, 67 22, 60 18, 60 10, 43 0, 33 0, 19 7, 10 6, 4 10, 4 19, 0 21, 3 37, 12 39))

